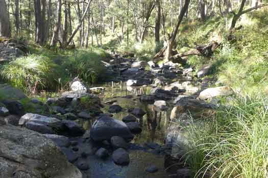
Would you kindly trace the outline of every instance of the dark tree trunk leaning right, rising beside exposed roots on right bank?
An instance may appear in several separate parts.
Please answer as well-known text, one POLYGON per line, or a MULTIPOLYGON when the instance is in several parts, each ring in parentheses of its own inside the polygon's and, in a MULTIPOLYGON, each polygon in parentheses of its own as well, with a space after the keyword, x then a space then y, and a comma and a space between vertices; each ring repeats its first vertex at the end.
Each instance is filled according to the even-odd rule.
POLYGON ((189 3, 190 3, 190 0, 185 0, 184 6, 183 6, 183 8, 182 8, 182 10, 180 12, 179 17, 178 17, 177 25, 176 25, 175 28, 173 28, 172 35, 169 38, 169 40, 167 41, 167 47, 166 47, 166 52, 165 52, 165 61, 170 60, 170 57, 171 57, 171 54, 172 54, 172 48, 173 48, 173 45, 174 45, 174 42, 175 42, 175 38, 176 38, 176 36, 178 34, 180 24, 182 22, 182 19, 184 17, 185 12, 188 9, 189 3))

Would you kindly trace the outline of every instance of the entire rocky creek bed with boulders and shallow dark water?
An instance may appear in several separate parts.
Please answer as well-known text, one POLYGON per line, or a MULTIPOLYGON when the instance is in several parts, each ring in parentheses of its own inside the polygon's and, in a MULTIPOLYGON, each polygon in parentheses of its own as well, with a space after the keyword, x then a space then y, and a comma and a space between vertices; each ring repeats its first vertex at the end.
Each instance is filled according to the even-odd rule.
POLYGON ((195 75, 172 62, 114 56, 103 63, 106 84, 75 79, 70 92, 45 103, 0 85, 9 96, 0 97, 0 140, 10 143, 0 146, 1 177, 191 177, 178 154, 184 138, 177 123, 187 123, 189 112, 213 113, 210 99, 230 88, 208 88, 213 80, 200 78, 207 66, 195 75))

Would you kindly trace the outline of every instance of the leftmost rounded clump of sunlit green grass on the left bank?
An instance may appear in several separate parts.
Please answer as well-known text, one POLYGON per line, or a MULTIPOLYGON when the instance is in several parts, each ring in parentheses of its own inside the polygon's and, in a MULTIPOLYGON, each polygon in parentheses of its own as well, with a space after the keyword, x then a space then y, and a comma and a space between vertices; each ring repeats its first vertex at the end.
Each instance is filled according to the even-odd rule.
POLYGON ((43 55, 30 54, 16 58, 1 67, 0 76, 25 91, 44 88, 53 81, 53 63, 43 55))

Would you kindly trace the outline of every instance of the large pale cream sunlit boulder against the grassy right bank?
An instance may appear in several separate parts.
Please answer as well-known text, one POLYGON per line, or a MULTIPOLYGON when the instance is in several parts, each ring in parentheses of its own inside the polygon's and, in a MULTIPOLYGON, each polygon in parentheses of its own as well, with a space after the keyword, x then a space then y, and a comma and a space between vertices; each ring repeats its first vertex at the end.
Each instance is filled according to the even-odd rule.
POLYGON ((213 97, 229 96, 233 93, 233 90, 229 86, 218 86, 214 88, 207 88, 206 90, 202 91, 199 95, 199 99, 206 100, 213 97))

